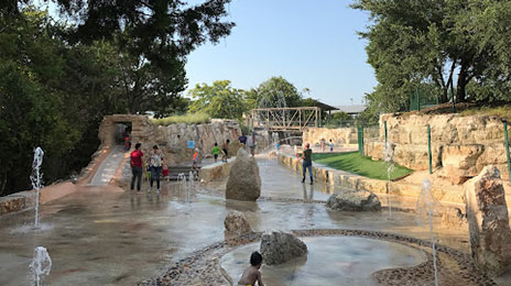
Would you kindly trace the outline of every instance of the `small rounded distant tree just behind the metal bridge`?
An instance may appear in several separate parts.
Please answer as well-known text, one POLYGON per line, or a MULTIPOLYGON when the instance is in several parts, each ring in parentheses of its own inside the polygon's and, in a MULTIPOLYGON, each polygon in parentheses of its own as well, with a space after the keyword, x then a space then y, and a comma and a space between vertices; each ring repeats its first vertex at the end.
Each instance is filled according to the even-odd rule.
POLYGON ((302 94, 283 77, 272 77, 247 92, 247 102, 253 108, 300 107, 302 94))

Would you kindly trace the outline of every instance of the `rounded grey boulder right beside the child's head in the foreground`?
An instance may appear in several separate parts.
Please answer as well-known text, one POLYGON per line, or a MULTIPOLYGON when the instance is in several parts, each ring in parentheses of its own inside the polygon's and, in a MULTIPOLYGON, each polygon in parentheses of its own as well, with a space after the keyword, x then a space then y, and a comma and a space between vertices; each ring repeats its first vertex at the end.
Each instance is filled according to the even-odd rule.
POLYGON ((307 245, 294 234, 283 231, 261 235, 262 261, 268 265, 282 264, 307 253, 307 245))

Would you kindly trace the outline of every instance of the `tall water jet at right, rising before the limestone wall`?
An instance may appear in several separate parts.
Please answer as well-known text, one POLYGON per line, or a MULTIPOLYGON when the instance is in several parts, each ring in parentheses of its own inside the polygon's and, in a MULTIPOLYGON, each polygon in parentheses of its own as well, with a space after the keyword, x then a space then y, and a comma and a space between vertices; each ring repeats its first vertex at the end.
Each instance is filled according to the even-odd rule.
POLYGON ((436 267, 436 246, 435 237, 433 234, 433 213, 438 206, 438 201, 433 197, 432 183, 425 178, 422 182, 421 194, 417 199, 417 206, 415 208, 415 220, 420 226, 430 223, 430 237, 432 241, 433 252, 433 267, 435 271, 435 286, 438 286, 438 271, 436 267))

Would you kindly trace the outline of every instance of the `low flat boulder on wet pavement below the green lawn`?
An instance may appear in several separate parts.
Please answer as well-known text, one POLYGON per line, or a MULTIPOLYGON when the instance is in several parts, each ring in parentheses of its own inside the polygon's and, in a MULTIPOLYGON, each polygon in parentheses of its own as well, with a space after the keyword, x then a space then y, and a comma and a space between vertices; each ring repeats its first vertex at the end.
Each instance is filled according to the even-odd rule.
POLYGON ((378 196, 367 190, 349 190, 331 195, 326 206, 333 210, 379 211, 378 196))

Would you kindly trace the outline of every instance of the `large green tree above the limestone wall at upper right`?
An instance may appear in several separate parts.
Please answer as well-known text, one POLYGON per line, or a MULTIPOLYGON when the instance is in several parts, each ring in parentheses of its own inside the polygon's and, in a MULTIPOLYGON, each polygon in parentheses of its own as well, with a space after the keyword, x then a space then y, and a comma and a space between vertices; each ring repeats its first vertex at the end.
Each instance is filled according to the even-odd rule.
POLYGON ((490 69, 492 51, 476 41, 472 19, 490 2, 356 1, 352 7, 369 11, 372 20, 360 35, 369 40, 368 62, 379 82, 373 98, 381 100, 382 110, 403 108, 421 86, 436 89, 439 102, 447 102, 450 91, 457 101, 475 99, 467 97, 467 86, 490 69))

